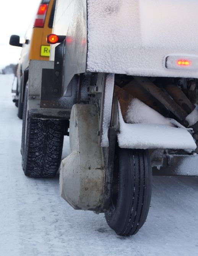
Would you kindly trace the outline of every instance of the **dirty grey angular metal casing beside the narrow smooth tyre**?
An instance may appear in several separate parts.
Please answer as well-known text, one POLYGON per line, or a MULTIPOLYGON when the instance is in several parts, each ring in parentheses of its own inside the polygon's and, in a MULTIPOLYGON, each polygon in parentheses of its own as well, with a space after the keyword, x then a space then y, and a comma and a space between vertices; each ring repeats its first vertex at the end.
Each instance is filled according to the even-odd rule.
POLYGON ((95 105, 75 104, 70 117, 70 155, 60 167, 60 194, 77 210, 100 211, 104 195, 102 151, 95 105))

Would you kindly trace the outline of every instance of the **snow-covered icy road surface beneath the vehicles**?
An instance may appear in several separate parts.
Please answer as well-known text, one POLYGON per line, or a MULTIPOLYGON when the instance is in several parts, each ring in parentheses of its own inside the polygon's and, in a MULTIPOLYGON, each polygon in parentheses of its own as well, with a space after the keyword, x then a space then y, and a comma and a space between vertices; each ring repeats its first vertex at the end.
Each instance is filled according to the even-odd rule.
MULTIPOLYGON (((104 214, 75 211, 59 196, 58 175, 24 176, 12 75, 0 75, 0 256, 197 256, 198 178, 154 177, 148 219, 119 237, 104 214)), ((65 137, 64 155, 68 137, 65 137)))

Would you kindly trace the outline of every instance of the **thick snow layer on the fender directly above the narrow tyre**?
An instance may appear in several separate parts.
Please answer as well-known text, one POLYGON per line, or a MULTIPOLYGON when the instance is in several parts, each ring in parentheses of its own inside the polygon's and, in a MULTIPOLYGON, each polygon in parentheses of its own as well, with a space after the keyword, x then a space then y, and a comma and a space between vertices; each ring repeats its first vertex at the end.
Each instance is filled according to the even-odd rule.
POLYGON ((192 135, 182 128, 162 124, 127 124, 118 105, 118 145, 128 149, 196 149, 192 135))

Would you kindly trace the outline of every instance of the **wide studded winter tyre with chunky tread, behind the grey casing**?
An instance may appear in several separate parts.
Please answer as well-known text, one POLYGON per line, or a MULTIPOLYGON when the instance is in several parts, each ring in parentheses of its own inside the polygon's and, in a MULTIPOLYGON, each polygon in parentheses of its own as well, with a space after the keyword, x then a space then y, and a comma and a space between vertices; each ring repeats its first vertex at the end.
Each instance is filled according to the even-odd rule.
POLYGON ((63 120, 32 119, 27 111, 28 87, 25 91, 22 167, 29 177, 53 177, 60 166, 63 138, 63 120))

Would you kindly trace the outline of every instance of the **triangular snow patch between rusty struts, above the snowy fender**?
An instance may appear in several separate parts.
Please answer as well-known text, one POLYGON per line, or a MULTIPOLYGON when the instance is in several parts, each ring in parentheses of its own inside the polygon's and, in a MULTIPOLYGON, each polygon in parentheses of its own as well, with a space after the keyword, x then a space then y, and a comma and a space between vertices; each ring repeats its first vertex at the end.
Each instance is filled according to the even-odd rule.
POLYGON ((134 98, 127 110, 126 121, 130 124, 149 123, 173 126, 169 119, 147 106, 144 102, 134 98))

